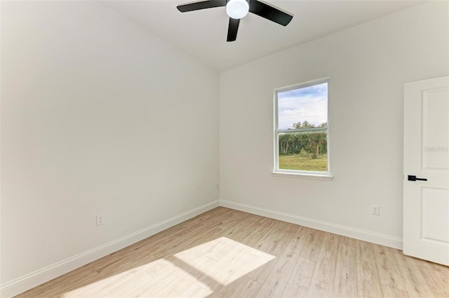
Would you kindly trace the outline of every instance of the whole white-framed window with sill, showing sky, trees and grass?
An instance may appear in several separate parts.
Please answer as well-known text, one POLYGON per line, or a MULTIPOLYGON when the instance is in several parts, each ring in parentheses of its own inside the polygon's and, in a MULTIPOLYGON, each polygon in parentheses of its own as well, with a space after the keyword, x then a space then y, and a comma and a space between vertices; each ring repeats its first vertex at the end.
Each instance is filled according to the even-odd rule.
POLYGON ((331 178, 328 79, 275 90, 274 173, 331 178))

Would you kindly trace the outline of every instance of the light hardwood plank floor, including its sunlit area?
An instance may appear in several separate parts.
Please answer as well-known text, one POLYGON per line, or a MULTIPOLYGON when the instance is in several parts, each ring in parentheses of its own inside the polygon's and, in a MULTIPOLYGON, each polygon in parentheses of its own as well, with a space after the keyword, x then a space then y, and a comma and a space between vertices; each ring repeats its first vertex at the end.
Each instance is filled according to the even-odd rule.
POLYGON ((220 207, 17 297, 449 297, 449 267, 220 207))

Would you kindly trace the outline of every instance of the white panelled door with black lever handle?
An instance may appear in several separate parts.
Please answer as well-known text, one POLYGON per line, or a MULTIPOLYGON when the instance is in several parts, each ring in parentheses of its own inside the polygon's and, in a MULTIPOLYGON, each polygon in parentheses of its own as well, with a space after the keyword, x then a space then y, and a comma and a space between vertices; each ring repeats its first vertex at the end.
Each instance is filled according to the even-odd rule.
POLYGON ((449 266, 449 76, 404 85, 403 252, 449 266))

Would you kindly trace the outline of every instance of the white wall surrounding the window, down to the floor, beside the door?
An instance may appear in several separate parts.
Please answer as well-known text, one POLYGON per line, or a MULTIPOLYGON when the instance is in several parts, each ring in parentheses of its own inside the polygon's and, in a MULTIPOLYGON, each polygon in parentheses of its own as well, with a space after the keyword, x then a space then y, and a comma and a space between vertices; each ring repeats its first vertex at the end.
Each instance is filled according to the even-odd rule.
POLYGON ((449 73, 448 11, 431 1, 220 73, 222 205, 399 246, 403 83, 449 73), (274 88, 327 76, 333 180, 274 177, 274 88))

